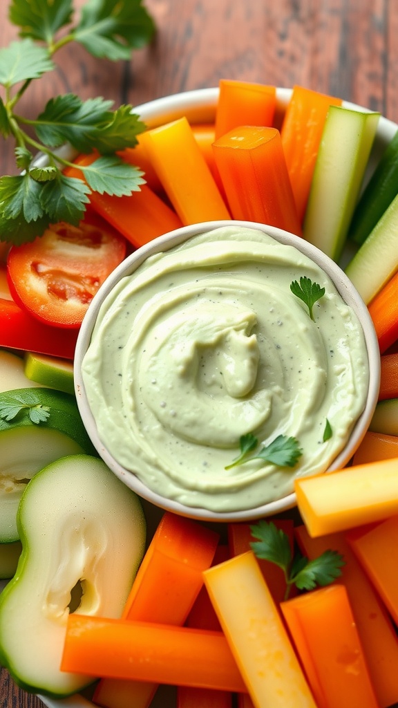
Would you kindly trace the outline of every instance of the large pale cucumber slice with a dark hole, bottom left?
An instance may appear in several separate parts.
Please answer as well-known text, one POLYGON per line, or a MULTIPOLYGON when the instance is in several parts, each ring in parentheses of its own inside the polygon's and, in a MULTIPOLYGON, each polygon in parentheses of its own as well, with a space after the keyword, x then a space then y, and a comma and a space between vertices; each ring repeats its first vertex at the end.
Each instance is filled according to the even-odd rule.
POLYGON ((23 551, 0 595, 0 663, 30 692, 63 697, 93 681, 59 670, 69 604, 120 617, 144 553, 139 499, 96 457, 64 457, 26 487, 23 551), (79 595, 79 593, 77 593, 79 595))

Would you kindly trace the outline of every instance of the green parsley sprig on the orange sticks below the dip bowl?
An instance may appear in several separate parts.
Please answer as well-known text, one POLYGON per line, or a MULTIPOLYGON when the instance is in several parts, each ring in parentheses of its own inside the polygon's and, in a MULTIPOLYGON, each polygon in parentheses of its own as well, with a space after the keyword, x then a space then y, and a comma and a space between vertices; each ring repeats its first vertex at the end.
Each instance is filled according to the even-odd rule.
POLYGON ((285 599, 293 585, 298 590, 313 590, 317 586, 327 586, 341 576, 344 559, 338 552, 327 550, 309 561, 299 551, 292 551, 288 535, 273 522, 261 520, 250 530, 258 539, 251 542, 254 554, 282 569, 286 581, 285 599))

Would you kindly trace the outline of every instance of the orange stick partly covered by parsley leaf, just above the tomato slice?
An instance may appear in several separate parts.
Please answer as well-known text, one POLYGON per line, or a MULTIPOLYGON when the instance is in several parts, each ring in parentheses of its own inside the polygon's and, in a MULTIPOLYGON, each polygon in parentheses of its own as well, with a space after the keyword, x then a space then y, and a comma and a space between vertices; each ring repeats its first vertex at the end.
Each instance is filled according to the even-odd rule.
MULTIPOLYGON (((90 164, 93 159, 93 155, 81 155, 75 160, 76 168, 68 167, 64 173, 82 179, 79 164, 90 164)), ((147 184, 139 192, 123 197, 91 192, 90 203, 135 248, 182 226, 176 213, 147 184)))

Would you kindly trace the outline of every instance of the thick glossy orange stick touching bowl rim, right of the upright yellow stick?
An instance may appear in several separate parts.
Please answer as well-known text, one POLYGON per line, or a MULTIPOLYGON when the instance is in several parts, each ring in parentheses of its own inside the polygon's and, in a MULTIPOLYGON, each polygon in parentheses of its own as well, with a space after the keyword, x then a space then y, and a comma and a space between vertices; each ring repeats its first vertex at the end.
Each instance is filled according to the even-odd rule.
POLYGON ((213 152, 234 219, 301 234, 276 128, 241 125, 217 139, 213 152))

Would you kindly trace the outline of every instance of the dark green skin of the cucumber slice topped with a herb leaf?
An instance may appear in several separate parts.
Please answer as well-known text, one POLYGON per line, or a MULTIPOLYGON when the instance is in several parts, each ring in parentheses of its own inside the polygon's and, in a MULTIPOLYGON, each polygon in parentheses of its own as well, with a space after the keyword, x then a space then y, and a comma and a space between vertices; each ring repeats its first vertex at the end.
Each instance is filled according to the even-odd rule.
POLYGON ((13 396, 17 393, 22 396, 27 394, 29 398, 32 399, 32 401, 37 405, 49 406, 50 416, 45 422, 32 423, 29 418, 28 409, 23 409, 11 421, 5 421, 4 418, 0 418, 0 433, 2 430, 11 430, 16 426, 36 425, 60 430, 62 433, 69 435, 69 437, 72 437, 71 432, 73 432, 74 440, 76 440, 87 455, 97 454, 93 443, 86 432, 86 428, 84 428, 81 421, 79 409, 74 396, 62 391, 56 391, 55 389, 48 389, 45 387, 29 387, 3 392, 0 394, 0 401, 11 401, 13 396))

